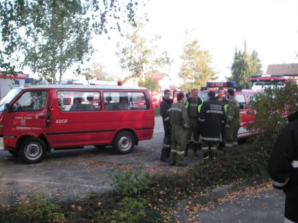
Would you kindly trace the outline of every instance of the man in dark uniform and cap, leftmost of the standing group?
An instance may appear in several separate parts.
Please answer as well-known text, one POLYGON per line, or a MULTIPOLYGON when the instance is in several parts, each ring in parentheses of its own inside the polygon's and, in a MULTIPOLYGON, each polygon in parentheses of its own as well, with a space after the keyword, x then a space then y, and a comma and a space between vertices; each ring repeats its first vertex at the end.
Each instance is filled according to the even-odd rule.
POLYGON ((163 118, 163 125, 165 130, 164 145, 162 148, 162 154, 160 160, 167 162, 171 152, 171 124, 169 113, 173 100, 171 99, 171 91, 166 89, 164 91, 164 97, 160 103, 160 114, 163 118))

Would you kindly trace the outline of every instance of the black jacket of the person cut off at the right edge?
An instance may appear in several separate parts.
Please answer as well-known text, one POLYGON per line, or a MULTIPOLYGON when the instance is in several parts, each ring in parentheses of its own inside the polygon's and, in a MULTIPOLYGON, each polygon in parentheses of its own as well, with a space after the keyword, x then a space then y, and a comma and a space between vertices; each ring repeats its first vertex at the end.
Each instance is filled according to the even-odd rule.
POLYGON ((295 186, 298 190, 298 111, 288 121, 273 146, 268 172, 276 189, 295 186))

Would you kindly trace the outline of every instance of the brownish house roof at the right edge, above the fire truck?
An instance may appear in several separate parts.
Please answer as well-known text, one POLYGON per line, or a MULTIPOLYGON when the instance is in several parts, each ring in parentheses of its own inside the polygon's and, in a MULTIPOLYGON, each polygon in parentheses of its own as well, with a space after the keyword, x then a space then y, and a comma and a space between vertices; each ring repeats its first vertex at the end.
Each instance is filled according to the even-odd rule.
POLYGON ((266 74, 298 76, 298 64, 270 64, 266 74))

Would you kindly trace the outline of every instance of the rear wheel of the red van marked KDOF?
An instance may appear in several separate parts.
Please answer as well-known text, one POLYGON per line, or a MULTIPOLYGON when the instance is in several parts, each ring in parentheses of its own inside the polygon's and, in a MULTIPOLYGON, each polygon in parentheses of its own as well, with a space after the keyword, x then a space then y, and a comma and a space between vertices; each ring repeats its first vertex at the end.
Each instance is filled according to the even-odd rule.
POLYGON ((128 154, 133 150, 134 137, 129 131, 120 131, 114 138, 113 149, 119 154, 128 154))

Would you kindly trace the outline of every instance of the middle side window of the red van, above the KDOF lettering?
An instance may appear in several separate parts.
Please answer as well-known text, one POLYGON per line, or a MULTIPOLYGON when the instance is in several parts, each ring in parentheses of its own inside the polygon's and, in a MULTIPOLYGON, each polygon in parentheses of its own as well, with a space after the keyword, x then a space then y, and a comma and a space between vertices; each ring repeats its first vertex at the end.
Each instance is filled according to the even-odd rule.
POLYGON ((58 91, 57 102, 61 111, 101 110, 99 92, 58 91))

